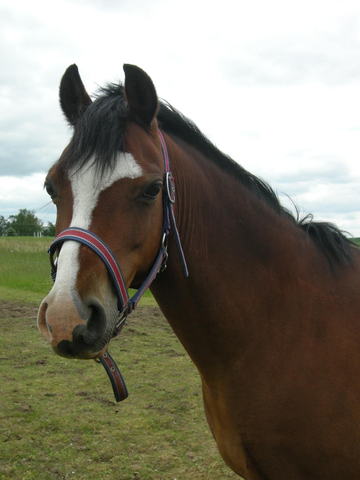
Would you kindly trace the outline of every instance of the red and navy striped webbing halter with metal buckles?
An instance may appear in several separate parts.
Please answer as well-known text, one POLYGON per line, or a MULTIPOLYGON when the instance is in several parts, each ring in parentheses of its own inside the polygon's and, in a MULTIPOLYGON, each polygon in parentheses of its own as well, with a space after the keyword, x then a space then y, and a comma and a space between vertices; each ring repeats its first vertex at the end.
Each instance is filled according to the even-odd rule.
MULTIPOLYGON (((115 258, 115 255, 108 248, 106 243, 104 243, 95 233, 85 230, 84 228, 78 227, 69 227, 65 228, 55 240, 51 243, 48 253, 50 254, 50 264, 51 264, 51 277, 55 282, 56 271, 57 271, 57 260, 60 253, 60 244, 65 240, 74 240, 79 243, 86 245, 93 252, 95 252, 103 261, 108 273, 110 274, 113 283, 115 285, 117 296, 118 296, 118 320, 114 328, 113 336, 119 335, 122 327, 124 326, 127 316, 136 308, 141 297, 144 295, 144 292, 147 288, 150 287, 154 281, 156 275, 159 272, 162 272, 166 268, 166 262, 168 261, 168 234, 172 226, 175 234, 176 243, 178 245, 178 250, 180 253, 181 263, 184 269, 184 275, 189 276, 188 269, 186 266, 186 261, 184 253, 181 248, 180 237, 178 229, 176 228, 175 217, 174 217, 174 203, 175 203, 175 182, 174 177, 172 176, 170 170, 170 161, 168 156, 168 149, 164 140, 164 137, 160 130, 158 130, 161 149, 164 157, 164 166, 165 166, 165 188, 166 192, 163 193, 163 206, 164 206, 164 226, 163 233, 160 240, 160 249, 157 255, 155 264, 151 269, 149 275, 146 277, 144 283, 138 288, 136 293, 129 298, 128 290, 126 288, 124 278, 121 273, 120 266, 115 258), (57 252, 57 258, 54 261, 54 254, 57 252), (120 305, 120 308, 119 308, 120 305)), ((128 396, 125 382, 121 376, 121 373, 111 358, 108 352, 105 352, 100 359, 96 359, 99 363, 102 363, 105 367, 106 372, 111 380, 113 387, 115 399, 117 402, 124 400, 128 396)))

